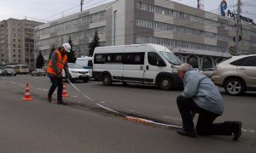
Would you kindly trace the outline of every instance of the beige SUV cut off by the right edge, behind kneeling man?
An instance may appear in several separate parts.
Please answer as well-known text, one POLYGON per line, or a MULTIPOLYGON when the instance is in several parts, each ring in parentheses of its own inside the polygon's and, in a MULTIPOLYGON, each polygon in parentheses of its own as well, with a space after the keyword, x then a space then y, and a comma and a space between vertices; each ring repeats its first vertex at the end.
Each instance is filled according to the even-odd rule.
POLYGON ((256 54, 233 56, 218 64, 212 81, 231 95, 256 91, 256 54))

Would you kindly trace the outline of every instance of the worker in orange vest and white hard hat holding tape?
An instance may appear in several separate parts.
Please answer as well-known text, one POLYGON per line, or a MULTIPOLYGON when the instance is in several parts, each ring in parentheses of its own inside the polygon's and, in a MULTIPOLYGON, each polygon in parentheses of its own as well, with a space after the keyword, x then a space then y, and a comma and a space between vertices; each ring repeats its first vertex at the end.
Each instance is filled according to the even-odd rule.
POLYGON ((48 93, 48 101, 51 102, 52 100, 52 94, 55 91, 55 88, 58 87, 57 91, 57 104, 60 105, 67 105, 67 103, 63 102, 62 99, 62 70, 64 69, 67 79, 69 79, 71 76, 68 72, 68 66, 67 66, 67 52, 70 52, 71 46, 69 43, 64 43, 61 48, 56 49, 49 59, 49 64, 47 67, 47 73, 50 79, 50 82, 52 83, 49 88, 48 93))

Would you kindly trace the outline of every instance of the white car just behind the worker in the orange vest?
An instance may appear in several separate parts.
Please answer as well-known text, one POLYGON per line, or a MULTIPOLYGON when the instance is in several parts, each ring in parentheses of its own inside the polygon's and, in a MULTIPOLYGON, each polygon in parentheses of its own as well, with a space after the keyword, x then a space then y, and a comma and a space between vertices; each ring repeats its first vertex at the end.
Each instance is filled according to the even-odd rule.
MULTIPOLYGON (((68 71, 72 77, 71 81, 81 80, 84 82, 89 81, 90 72, 84 69, 82 66, 77 65, 75 63, 67 63, 68 71)), ((62 76, 65 78, 66 74, 65 71, 62 71, 62 76)))

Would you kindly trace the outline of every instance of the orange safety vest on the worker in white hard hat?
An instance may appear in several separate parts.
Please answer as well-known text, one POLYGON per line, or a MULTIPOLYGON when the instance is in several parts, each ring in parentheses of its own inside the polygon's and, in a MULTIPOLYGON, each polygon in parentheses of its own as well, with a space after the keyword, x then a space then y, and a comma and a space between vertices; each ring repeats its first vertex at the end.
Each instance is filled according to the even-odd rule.
MULTIPOLYGON (((57 54, 58 54, 58 57, 57 57, 57 65, 56 66, 57 66, 57 69, 60 69, 62 71, 62 69, 64 68, 64 65, 67 62, 67 55, 64 54, 63 59, 62 59, 62 56, 61 56, 61 53, 60 53, 59 50, 57 50, 57 54)), ((47 67, 47 72, 50 73, 50 74, 57 75, 55 70, 52 68, 51 59, 49 60, 49 64, 48 64, 48 67, 47 67)))

